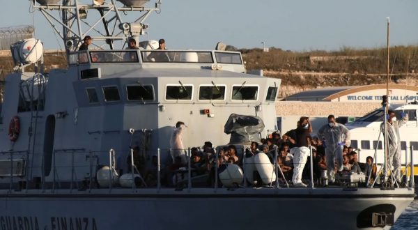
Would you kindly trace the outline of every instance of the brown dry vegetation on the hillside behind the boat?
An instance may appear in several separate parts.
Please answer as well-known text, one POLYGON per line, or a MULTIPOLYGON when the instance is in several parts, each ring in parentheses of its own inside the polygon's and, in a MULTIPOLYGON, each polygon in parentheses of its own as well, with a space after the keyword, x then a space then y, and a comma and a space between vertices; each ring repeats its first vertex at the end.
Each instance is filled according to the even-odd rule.
MULTIPOLYGON (((235 47, 227 47, 235 49, 235 47)), ((339 51, 291 52, 270 48, 238 49, 246 61, 247 70, 263 69, 269 77, 282 79, 281 97, 326 86, 382 84, 386 80, 387 49, 353 49, 339 51)), ((418 84, 418 47, 398 46, 390 49, 392 83, 418 84), (407 75, 408 73, 408 75, 407 75), (407 80, 408 76, 408 80, 407 80)), ((66 68, 63 54, 46 54, 45 67, 66 68)), ((0 77, 13 69, 10 57, 0 57, 0 77)), ((26 69, 30 71, 33 68, 26 69)))

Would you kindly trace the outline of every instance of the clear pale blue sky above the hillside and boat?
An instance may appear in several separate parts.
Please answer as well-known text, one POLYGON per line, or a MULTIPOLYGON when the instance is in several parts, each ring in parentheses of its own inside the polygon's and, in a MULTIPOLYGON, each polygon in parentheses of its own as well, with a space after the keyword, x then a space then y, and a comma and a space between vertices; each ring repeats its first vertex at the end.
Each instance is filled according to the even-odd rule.
MULTIPOLYGON (((33 24, 28 0, 2 1, 0 27, 33 24)), ((251 48, 265 41, 295 51, 337 50, 385 46, 388 16, 391 45, 418 45, 417 10, 416 0, 162 0, 162 13, 147 23, 150 38, 165 38, 170 49, 213 49, 218 41, 251 48)), ((40 13, 34 19, 47 48, 63 47, 40 13)))

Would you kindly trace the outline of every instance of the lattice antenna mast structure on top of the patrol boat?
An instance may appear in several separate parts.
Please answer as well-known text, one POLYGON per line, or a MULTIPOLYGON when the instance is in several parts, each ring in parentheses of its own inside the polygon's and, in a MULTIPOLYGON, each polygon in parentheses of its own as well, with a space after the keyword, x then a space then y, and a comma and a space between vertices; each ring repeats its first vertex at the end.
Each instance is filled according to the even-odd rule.
POLYGON ((74 52, 84 36, 93 38, 96 49, 121 49, 128 38, 145 34, 150 13, 160 12, 161 0, 36 0, 31 1, 63 40, 65 50, 74 52), (135 15, 135 17, 132 17, 135 15), (125 22, 129 18, 129 22, 125 22), (59 30, 62 28, 62 31, 59 30), (116 44, 115 44, 116 43, 116 44))

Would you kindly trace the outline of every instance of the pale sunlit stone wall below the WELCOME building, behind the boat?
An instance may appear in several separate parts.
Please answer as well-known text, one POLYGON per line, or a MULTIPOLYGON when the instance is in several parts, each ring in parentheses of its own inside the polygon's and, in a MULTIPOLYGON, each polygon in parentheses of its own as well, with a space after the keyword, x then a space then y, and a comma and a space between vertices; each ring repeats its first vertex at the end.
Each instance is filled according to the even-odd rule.
POLYGON ((381 107, 380 102, 276 102, 277 116, 364 116, 381 107))

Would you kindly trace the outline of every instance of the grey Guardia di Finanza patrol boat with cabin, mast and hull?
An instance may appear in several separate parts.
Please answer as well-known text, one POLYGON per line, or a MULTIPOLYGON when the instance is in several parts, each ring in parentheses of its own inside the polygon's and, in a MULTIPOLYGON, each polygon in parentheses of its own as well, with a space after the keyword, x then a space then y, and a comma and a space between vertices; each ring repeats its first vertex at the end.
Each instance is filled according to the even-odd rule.
POLYGON ((240 178, 219 176, 224 185, 238 180, 233 186, 218 186, 216 176, 214 186, 197 186, 191 167, 176 171, 185 178, 176 187, 162 185, 177 121, 188 125, 187 147, 228 144, 224 124, 231 114, 263 121, 265 136, 277 129, 281 81, 246 74, 239 52, 161 51, 152 43, 117 49, 143 35, 144 20, 161 5, 118 1, 30 1, 63 38, 68 68, 42 71, 39 40, 12 47, 17 67, 6 77, 1 110, 1 229, 389 229, 410 204, 413 182, 296 188, 279 183, 277 163, 263 187, 247 183, 245 167, 234 168, 240 178), (136 20, 124 21, 136 13, 136 20), (95 47, 102 42, 109 49, 77 52, 87 33, 95 47), (31 63, 37 71, 24 72, 31 63), (148 167, 148 158, 155 160, 156 185, 127 165, 135 151, 148 167))

